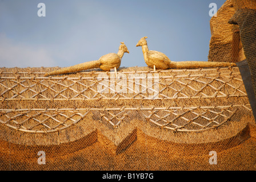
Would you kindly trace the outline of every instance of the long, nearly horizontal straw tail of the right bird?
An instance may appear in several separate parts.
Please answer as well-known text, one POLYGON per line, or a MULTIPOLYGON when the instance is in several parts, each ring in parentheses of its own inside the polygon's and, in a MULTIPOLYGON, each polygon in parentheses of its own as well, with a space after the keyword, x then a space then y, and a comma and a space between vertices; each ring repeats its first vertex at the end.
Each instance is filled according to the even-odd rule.
POLYGON ((171 61, 170 68, 217 68, 217 67, 234 67, 235 63, 228 62, 210 62, 210 61, 171 61))

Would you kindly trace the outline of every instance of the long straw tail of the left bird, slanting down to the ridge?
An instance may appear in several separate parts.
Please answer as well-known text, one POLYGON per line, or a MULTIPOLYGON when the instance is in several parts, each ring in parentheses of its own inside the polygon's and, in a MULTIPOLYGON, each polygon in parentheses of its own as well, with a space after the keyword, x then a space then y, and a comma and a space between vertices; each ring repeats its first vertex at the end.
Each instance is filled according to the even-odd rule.
POLYGON ((79 72, 79 71, 83 71, 86 69, 99 68, 99 65, 100 65, 99 60, 89 61, 89 62, 85 62, 85 63, 76 64, 71 67, 61 68, 56 71, 45 73, 45 76, 60 75, 60 74, 65 74, 65 73, 79 72))

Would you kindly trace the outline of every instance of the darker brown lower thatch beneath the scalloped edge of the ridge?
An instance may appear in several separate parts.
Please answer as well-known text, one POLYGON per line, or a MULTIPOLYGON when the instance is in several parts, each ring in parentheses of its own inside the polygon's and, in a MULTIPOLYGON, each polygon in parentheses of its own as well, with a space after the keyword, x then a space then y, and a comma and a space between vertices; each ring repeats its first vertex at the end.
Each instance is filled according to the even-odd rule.
MULTIPOLYGON (((90 146, 86 139, 59 146, 25 147, 1 141, 1 170, 237 170, 255 171, 255 126, 237 125, 241 130, 221 142, 179 144, 166 142, 137 131, 137 140, 116 155, 114 146, 102 134, 90 146), (46 152, 46 165, 37 164, 38 151, 46 152), (209 164, 210 151, 217 152, 217 165, 209 164)), ((218 132, 217 132, 218 133, 218 132)), ((225 132, 224 132, 225 133, 225 132)), ((222 134, 224 134, 222 133, 222 134)), ((201 136, 203 137, 203 136, 201 136)))

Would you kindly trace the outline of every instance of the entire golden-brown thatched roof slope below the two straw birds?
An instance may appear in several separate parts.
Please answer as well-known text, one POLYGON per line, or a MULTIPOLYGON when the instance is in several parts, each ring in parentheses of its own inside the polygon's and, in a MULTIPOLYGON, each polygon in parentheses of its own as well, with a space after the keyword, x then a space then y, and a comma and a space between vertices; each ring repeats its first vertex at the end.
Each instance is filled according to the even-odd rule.
POLYGON ((237 67, 44 77, 54 69, 1 68, 1 169, 254 169, 240 160, 240 147, 254 152, 255 121, 237 67), (124 84, 135 74, 139 82, 124 84), (99 92, 104 84, 108 93, 99 92), (218 167, 209 166, 211 150, 218 167), (38 151, 46 152, 44 166, 38 151))

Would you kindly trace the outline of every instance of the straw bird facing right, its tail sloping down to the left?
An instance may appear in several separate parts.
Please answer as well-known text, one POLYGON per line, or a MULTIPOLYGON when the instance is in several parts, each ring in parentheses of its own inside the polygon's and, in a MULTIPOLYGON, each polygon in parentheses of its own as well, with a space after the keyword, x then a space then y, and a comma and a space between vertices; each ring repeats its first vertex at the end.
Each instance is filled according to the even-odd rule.
POLYGON ((118 53, 108 53, 101 56, 99 60, 89 61, 73 65, 71 67, 61 68, 56 71, 46 73, 45 76, 73 73, 93 68, 101 68, 103 71, 110 71, 111 69, 115 69, 116 72, 117 68, 119 68, 121 65, 121 60, 125 52, 129 53, 125 43, 121 42, 118 53))

